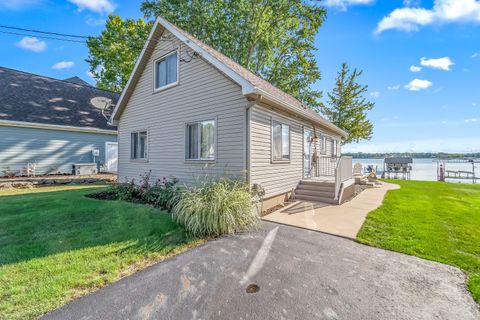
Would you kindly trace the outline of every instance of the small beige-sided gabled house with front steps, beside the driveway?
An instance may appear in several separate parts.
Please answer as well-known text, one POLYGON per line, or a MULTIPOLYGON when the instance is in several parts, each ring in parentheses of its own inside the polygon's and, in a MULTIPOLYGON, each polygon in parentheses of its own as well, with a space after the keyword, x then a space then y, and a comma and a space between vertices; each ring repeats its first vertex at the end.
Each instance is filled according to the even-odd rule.
POLYGON ((343 130, 161 17, 111 122, 120 180, 233 175, 265 190, 265 208, 295 189, 333 203, 352 191, 343 130))

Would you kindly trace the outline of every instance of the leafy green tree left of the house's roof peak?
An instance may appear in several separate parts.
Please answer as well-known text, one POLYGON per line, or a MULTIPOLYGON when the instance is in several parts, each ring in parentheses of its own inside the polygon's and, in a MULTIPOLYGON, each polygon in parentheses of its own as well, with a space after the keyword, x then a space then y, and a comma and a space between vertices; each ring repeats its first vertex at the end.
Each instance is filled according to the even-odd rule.
POLYGON ((122 91, 151 27, 152 24, 143 19, 123 20, 110 15, 105 30, 98 37, 87 40, 89 55, 86 61, 97 80, 97 87, 122 91))

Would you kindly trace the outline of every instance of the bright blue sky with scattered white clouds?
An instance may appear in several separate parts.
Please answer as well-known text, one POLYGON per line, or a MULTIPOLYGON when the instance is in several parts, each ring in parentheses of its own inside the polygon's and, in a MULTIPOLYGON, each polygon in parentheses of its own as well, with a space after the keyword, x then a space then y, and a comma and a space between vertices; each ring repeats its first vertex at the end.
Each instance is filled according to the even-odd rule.
MULTIPOLYGON (((96 35, 109 12, 141 17, 140 2, 0 0, 0 24, 96 35)), ((331 90, 345 61, 364 70, 361 82, 376 103, 373 139, 344 150, 480 152, 479 0, 324 3, 328 17, 316 38, 322 80, 315 86, 331 90)), ((5 67, 93 83, 87 55, 83 44, 0 33, 5 67)))

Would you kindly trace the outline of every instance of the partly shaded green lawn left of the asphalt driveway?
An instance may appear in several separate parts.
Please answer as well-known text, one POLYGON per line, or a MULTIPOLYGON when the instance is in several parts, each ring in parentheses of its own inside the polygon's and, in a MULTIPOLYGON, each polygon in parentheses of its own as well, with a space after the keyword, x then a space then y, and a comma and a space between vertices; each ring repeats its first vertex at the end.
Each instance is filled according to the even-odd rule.
POLYGON ((0 318, 36 318, 200 242, 158 209, 84 197, 101 188, 0 191, 0 318))

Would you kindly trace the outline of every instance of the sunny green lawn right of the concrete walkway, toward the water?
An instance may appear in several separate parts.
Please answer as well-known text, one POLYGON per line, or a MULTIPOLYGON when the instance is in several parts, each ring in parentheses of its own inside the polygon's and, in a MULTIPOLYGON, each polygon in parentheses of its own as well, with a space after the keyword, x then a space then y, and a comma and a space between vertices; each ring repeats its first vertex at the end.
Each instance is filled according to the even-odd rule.
POLYGON ((480 302, 480 185, 389 182, 401 188, 368 214, 357 239, 459 267, 480 302))

